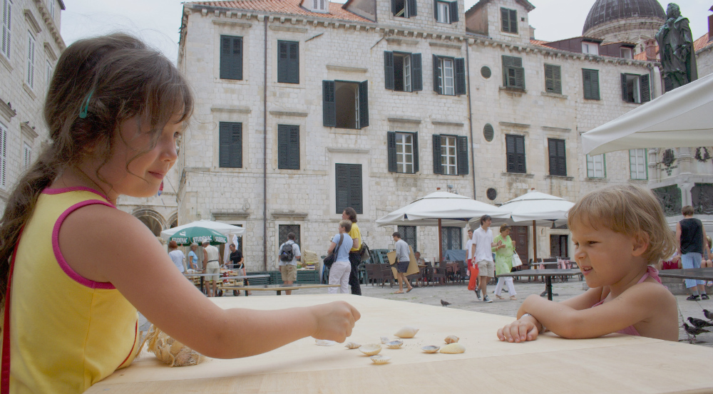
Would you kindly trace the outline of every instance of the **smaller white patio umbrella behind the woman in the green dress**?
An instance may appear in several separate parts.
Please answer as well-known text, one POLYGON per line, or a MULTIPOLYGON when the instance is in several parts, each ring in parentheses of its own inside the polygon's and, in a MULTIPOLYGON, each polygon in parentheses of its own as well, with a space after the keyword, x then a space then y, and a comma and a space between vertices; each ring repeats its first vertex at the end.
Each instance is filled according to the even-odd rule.
POLYGON ((569 202, 562 197, 555 197, 535 190, 515 197, 500 207, 512 212, 513 222, 526 222, 533 225, 533 261, 537 261, 537 232, 535 232, 538 220, 556 221, 567 218, 567 212, 574 207, 573 202, 569 202))

